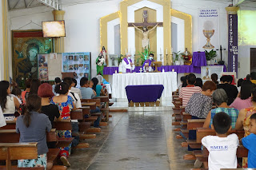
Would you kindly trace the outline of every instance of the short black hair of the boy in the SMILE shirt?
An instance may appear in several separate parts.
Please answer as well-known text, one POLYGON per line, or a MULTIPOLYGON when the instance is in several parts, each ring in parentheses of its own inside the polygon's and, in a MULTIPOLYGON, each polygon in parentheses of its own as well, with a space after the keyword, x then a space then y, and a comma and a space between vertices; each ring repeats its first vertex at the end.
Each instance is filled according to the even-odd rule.
POLYGON ((225 134, 231 125, 231 118, 228 114, 220 112, 214 115, 213 120, 214 130, 218 134, 225 134))

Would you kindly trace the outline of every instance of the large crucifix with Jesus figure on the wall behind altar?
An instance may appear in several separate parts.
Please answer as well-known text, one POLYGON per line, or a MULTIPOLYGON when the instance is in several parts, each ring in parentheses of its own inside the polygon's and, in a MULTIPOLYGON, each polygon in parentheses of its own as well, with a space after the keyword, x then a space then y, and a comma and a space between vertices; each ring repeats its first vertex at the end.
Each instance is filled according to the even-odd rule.
POLYGON ((143 10, 143 22, 142 23, 128 23, 128 26, 134 27, 136 30, 139 30, 143 34, 143 39, 142 39, 142 47, 143 49, 148 48, 150 44, 149 40, 149 33, 150 31, 154 30, 157 26, 162 26, 162 22, 147 22, 147 10, 143 10), (154 26, 151 30, 148 30, 148 26, 154 26), (140 30, 138 27, 142 27, 142 30, 140 30))

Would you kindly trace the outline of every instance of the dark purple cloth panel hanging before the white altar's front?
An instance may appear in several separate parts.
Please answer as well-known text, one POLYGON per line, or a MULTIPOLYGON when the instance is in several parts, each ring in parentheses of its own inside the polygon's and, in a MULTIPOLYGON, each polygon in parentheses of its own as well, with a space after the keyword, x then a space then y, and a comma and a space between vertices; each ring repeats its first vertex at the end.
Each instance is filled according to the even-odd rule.
POLYGON ((127 85, 128 101, 154 102, 162 96, 163 85, 127 85))

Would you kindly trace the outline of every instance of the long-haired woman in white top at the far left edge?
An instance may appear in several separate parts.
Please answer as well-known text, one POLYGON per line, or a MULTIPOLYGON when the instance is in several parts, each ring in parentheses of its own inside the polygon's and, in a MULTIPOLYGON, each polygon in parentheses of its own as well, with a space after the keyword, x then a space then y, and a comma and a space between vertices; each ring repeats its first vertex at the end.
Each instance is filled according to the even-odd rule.
POLYGON ((16 97, 10 96, 10 83, 8 81, 0 81, 0 106, 6 121, 15 119, 15 110, 19 108, 19 102, 16 97))

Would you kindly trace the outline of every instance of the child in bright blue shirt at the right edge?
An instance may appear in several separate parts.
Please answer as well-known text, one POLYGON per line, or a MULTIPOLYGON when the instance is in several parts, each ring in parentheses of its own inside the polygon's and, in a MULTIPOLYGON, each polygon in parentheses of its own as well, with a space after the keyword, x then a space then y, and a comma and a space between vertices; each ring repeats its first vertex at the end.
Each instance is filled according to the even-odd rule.
POLYGON ((256 168, 256 113, 250 116, 250 135, 242 138, 242 145, 249 150, 248 168, 256 168))

